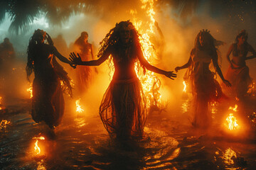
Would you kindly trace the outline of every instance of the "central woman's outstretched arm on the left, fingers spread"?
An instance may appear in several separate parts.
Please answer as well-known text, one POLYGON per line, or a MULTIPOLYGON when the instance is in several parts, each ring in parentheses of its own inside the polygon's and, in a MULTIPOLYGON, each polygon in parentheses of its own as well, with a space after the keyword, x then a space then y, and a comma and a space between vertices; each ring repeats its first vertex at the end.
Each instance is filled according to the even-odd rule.
POLYGON ((74 64, 78 64, 78 65, 87 65, 87 66, 99 66, 100 64, 102 64, 102 62, 105 62, 105 60, 107 60, 107 58, 110 56, 110 50, 109 48, 107 48, 104 52, 104 54, 102 55, 102 57, 100 57, 98 60, 90 60, 87 62, 83 62, 81 60, 80 55, 75 55, 75 52, 70 52, 70 61, 73 62, 74 64))

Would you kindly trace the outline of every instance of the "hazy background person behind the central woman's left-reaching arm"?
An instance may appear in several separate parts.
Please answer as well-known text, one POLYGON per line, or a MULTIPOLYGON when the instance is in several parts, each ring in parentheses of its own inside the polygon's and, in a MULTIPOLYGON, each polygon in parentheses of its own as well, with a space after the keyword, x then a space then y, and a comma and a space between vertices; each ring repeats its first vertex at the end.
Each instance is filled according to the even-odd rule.
MULTIPOLYGON (((74 50, 80 55, 82 61, 94 60, 92 44, 88 42, 87 32, 82 32, 80 37, 75 40, 74 50)), ((78 89, 80 92, 85 92, 92 79, 92 68, 78 66, 77 69, 78 89)))

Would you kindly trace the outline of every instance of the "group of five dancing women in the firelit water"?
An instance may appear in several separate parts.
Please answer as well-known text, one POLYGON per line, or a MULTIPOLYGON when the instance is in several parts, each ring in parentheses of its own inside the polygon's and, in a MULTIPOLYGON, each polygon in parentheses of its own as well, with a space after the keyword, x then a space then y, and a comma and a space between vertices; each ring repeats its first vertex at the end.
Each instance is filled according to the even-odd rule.
MULTIPOLYGON (((99 66, 110 60, 114 63, 114 75, 100 103, 99 113, 102 123, 113 139, 127 141, 143 137, 147 115, 146 98, 134 69, 135 63, 138 62, 143 69, 163 74, 170 79, 174 79, 176 74, 166 72, 147 62, 139 36, 130 21, 122 21, 117 23, 100 42, 97 59, 89 60, 89 57, 82 58, 79 53, 71 52, 68 60, 53 46, 53 40, 48 33, 35 30, 29 41, 26 66, 28 77, 32 72, 35 74, 32 98, 33 120, 44 121, 50 128, 55 128, 60 124, 64 113, 63 90, 72 95, 68 73, 56 62, 55 57, 61 62, 70 64, 70 67, 83 69, 84 74, 80 74, 80 82, 87 81, 85 74, 89 71, 88 67, 84 66, 99 66), (60 83, 63 85, 61 86, 60 83)), ((87 33, 83 32, 82 40, 77 40, 75 43, 87 42, 87 37, 87 33)), ((209 69, 211 62, 223 84, 228 86, 228 89, 233 89, 235 96, 245 96, 251 83, 245 60, 254 58, 256 54, 252 46, 247 43, 245 30, 238 34, 236 42, 230 46, 227 55, 230 68, 225 78, 218 64, 218 45, 222 44, 223 42, 215 40, 208 30, 201 30, 196 36, 188 62, 175 68, 176 72, 180 69, 188 69, 186 78, 191 84, 193 94, 192 125, 198 128, 206 128, 210 125, 209 103, 225 96, 220 84, 215 80, 214 73, 209 69), (229 57, 231 52, 232 60, 229 57), (252 56, 247 57, 248 52, 252 52, 252 56)), ((85 43, 81 47, 86 52, 86 56, 90 54, 93 56, 92 45, 85 43)), ((79 88, 85 88, 81 86, 82 83, 79 88)))

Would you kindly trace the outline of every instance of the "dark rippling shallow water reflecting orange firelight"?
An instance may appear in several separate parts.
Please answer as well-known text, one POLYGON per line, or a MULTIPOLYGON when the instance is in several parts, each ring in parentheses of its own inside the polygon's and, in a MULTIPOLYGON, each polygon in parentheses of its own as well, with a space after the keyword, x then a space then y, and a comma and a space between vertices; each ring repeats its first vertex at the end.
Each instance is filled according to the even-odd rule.
MULTIPOLYGON (((16 98, 0 113, 1 169, 254 169, 252 137, 228 137, 220 128, 196 130, 188 121, 189 100, 181 101, 176 116, 153 113, 146 121, 144 140, 124 147, 111 141, 100 117, 66 108, 55 135, 31 119, 30 101, 16 98), (178 115, 178 116, 177 116, 178 115), (33 137, 41 154, 35 152, 33 137), (234 157, 233 157, 234 156, 234 157)), ((213 109, 213 125, 222 108, 213 109)))

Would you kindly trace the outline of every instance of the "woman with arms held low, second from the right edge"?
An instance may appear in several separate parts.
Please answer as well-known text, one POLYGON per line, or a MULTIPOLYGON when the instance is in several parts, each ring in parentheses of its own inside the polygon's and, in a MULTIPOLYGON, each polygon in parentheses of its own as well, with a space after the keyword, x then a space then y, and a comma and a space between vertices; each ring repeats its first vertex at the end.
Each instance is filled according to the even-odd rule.
POLYGON ((215 40, 208 30, 200 31, 196 36, 195 47, 191 50, 188 62, 175 68, 176 72, 188 68, 188 79, 193 94, 192 125, 198 128, 206 128, 211 124, 208 105, 211 101, 217 101, 223 96, 220 84, 214 79, 214 74, 209 69, 210 62, 213 62, 220 79, 227 86, 231 86, 230 82, 224 79, 218 65, 217 42, 220 41, 215 40))

